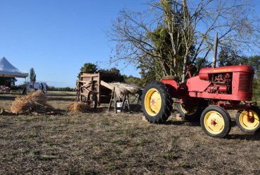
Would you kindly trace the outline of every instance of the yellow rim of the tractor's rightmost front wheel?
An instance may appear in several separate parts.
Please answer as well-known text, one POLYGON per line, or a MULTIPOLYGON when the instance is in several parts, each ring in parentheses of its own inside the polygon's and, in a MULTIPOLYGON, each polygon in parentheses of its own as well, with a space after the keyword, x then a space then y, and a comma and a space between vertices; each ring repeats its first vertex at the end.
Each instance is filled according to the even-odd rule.
POLYGON ((259 126, 259 116, 252 110, 249 110, 249 116, 252 119, 251 121, 247 118, 247 111, 242 111, 239 116, 239 123, 245 130, 254 130, 259 126))

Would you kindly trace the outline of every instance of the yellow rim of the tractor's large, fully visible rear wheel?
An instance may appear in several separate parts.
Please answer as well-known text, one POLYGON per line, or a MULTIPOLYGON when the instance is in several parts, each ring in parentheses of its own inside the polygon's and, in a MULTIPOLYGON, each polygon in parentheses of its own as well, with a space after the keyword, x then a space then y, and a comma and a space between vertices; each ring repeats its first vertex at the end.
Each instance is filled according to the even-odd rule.
POLYGON ((145 111, 150 116, 155 116, 157 113, 159 113, 161 106, 162 106, 162 97, 160 93, 155 89, 152 88, 148 90, 148 92, 145 94, 145 111))

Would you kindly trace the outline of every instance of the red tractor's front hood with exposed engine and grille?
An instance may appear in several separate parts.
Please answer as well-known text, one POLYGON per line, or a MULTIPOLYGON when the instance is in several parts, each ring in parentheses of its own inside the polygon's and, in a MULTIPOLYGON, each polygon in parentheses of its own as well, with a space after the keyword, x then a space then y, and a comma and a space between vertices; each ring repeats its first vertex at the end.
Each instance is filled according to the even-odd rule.
MULTIPOLYGON (((251 66, 222 66, 217 68, 200 69, 200 80, 205 84, 204 92, 209 94, 232 95, 218 96, 217 99, 252 100, 254 70, 251 66)), ((202 84, 202 83, 200 83, 202 84)), ((190 89, 191 90, 191 89, 190 89)), ((207 96, 207 94, 204 94, 207 96)), ((202 95, 202 96, 204 96, 202 95)))

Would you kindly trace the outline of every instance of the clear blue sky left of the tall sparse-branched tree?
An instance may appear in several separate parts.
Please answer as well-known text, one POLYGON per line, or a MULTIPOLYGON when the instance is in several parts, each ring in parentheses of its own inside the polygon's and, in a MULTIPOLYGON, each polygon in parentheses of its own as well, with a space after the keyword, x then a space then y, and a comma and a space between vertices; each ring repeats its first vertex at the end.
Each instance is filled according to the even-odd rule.
MULTIPOLYGON (((105 31, 119 10, 143 10, 145 1, 114 0, 0 0, 0 58, 29 72, 38 81, 56 87, 74 87, 85 62, 110 68, 111 55, 105 31)), ((138 76, 134 67, 121 69, 138 76)), ((16 84, 24 81, 18 78, 16 84)))

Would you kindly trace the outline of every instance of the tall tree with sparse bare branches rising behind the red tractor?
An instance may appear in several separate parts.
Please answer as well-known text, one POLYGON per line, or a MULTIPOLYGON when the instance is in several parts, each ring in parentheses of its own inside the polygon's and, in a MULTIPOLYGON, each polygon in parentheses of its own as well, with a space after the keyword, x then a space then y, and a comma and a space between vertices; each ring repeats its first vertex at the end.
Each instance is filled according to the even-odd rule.
POLYGON ((257 16, 250 1, 150 1, 148 12, 122 10, 108 36, 116 42, 112 62, 135 64, 157 79, 169 74, 186 78, 186 66, 198 57, 206 60, 219 45, 235 50, 259 48, 257 16))

